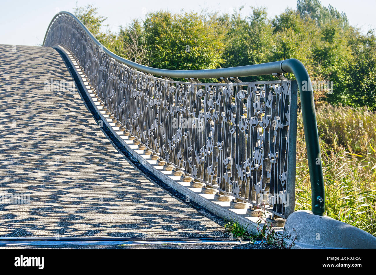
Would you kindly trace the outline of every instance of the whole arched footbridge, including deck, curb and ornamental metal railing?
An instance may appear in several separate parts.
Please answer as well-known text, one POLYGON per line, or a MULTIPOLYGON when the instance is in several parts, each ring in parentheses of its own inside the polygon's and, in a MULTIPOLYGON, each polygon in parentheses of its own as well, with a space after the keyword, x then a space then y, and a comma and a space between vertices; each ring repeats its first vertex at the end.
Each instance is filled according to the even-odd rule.
POLYGON ((0 188, 32 202, 0 204, 3 236, 212 236, 222 227, 211 213, 253 226, 265 212, 281 227, 294 212, 298 91, 312 212, 323 216, 313 91, 299 60, 151 68, 109 51, 69 12, 52 19, 43 47, 0 47, 0 188), (268 74, 279 79, 239 80, 268 74))

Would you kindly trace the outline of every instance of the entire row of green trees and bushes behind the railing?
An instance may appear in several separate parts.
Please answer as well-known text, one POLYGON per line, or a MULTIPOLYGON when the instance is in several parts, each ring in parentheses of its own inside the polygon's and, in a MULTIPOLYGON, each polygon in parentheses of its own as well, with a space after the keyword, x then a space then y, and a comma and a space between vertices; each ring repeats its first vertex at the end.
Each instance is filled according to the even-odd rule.
POLYGON ((374 30, 362 33, 336 8, 341 6, 298 0, 296 9, 287 8, 272 18, 264 7, 253 7, 249 14, 244 14, 244 9, 225 14, 150 11, 144 21, 134 19, 120 27, 119 33, 101 32, 105 18, 92 6, 79 8, 75 14, 111 51, 144 65, 188 70, 296 58, 306 66, 312 80, 333 81, 333 93, 318 89, 315 100, 375 110, 374 30))

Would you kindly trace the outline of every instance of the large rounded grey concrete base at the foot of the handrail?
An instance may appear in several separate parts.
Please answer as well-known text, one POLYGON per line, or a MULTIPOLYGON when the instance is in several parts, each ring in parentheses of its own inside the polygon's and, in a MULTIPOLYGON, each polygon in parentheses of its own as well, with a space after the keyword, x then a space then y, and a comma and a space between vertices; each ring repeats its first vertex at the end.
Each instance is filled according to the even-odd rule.
POLYGON ((298 210, 288 216, 285 235, 297 239, 293 248, 348 248, 376 249, 376 237, 352 225, 327 216, 313 215, 298 210))

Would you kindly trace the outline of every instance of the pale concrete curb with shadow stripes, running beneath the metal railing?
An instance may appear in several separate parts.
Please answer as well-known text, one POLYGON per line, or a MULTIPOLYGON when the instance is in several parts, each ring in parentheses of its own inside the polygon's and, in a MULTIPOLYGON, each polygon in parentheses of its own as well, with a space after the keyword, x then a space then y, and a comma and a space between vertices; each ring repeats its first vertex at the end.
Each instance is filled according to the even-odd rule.
MULTIPOLYGON (((103 121, 103 125, 111 131, 111 133, 118 139, 118 141, 126 148, 126 150, 140 162, 145 168, 147 168, 150 172, 152 172, 156 177, 166 183, 168 186, 174 188, 177 192, 186 196, 186 198, 196 202, 197 204, 201 205, 205 209, 209 210, 210 212, 214 213, 215 215, 227 219, 227 220, 236 220, 244 227, 247 227, 247 231, 251 234, 258 234, 257 230, 257 223, 259 221, 258 217, 250 217, 246 215, 247 208, 251 206, 247 203, 247 207, 245 209, 234 209, 230 207, 230 201, 235 199, 235 197, 230 196, 230 201, 215 201, 214 194, 204 194, 201 192, 201 188, 193 188, 190 187, 189 182, 180 181, 179 176, 172 176, 171 171, 163 170, 163 166, 158 166, 156 160, 151 160, 149 155, 145 155, 143 150, 138 150, 138 145, 134 145, 133 141, 128 139, 128 136, 119 135, 118 134, 118 127, 114 127, 110 125, 111 119, 106 119, 103 115, 105 112, 98 109, 97 104, 94 102, 92 97, 95 94, 95 91, 92 90, 89 83, 84 81, 83 79, 87 79, 83 72, 79 72, 77 69, 79 68, 79 63, 76 60, 72 60, 74 57, 68 50, 66 50, 61 45, 55 45, 53 48, 58 49, 63 53, 67 59, 70 61, 70 65, 74 69, 77 76, 79 76, 79 80, 81 85, 84 87, 85 93, 90 99, 90 102, 93 106, 95 106, 95 110, 97 114, 103 121), (76 63, 76 64, 74 64, 76 63)), ((267 215, 271 215, 270 213, 266 212, 267 215)), ((260 223, 262 227, 264 222, 260 223)), ((283 228, 281 227, 273 227, 276 232, 282 232, 283 228)))

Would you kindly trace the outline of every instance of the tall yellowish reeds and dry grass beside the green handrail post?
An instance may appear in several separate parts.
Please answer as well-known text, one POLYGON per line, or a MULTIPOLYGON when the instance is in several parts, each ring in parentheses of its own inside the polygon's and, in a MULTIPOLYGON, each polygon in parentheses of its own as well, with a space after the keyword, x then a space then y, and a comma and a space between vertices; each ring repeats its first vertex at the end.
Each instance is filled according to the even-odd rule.
MULTIPOLYGON (((326 215, 376 236, 376 113, 317 108, 326 188, 326 215)), ((298 114, 296 210, 311 209, 303 122, 298 114)))

